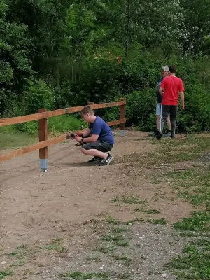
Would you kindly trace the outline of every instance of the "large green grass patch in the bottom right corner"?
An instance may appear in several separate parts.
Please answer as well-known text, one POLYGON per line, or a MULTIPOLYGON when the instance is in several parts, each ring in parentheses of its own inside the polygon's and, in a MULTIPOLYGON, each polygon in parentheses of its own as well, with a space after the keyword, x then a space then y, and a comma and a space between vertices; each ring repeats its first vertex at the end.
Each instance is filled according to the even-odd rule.
MULTIPOLYGON (((174 223, 174 228, 183 230, 183 237, 193 237, 178 255, 167 264, 178 279, 210 279, 210 215, 206 211, 194 211, 190 218, 174 223), (199 237, 195 239, 195 237, 199 237), (202 238, 201 238, 202 237, 202 238)), ((181 235, 181 234, 180 234, 181 235)))

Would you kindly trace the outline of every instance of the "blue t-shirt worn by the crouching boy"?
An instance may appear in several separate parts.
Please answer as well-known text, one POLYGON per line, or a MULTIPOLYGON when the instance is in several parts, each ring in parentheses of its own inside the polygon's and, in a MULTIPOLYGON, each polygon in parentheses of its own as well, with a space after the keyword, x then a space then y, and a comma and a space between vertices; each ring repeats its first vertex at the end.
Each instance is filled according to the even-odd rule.
POLYGON ((111 145, 115 143, 111 128, 99 116, 96 116, 94 123, 90 123, 89 128, 92 134, 99 135, 99 141, 104 141, 111 145))

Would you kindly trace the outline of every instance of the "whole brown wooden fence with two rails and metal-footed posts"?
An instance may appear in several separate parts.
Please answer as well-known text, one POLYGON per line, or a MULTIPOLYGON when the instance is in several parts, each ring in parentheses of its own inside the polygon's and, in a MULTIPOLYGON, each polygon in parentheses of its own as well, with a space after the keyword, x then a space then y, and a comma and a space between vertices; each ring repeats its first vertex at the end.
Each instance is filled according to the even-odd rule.
MULTIPOLYGON (((101 109, 101 108, 109 108, 113 106, 120 107, 120 119, 113 120, 108 123, 109 126, 120 125, 120 136, 124 136, 125 130, 125 104, 126 100, 121 98, 118 102, 111 103, 102 103, 102 104, 94 104, 93 102, 88 102, 88 104, 92 107, 92 109, 101 109)), ((16 158, 20 155, 24 155, 25 153, 31 153, 33 151, 39 150, 39 159, 40 159, 40 167, 42 172, 47 172, 48 166, 48 146, 53 144, 57 144, 59 142, 66 140, 66 134, 61 135, 59 137, 55 137, 52 139, 48 139, 48 118, 53 116, 60 116, 67 113, 76 113, 80 112, 84 106, 78 107, 70 107, 66 109, 59 109, 54 111, 47 111, 47 109, 39 109, 38 113, 27 115, 27 116, 19 116, 13 118, 2 118, 0 119, 0 127, 5 125, 15 125, 17 123, 26 123, 31 120, 38 120, 38 137, 39 143, 27 146, 25 148, 20 148, 18 150, 12 151, 10 153, 6 153, 4 155, 0 155, 0 162, 4 162, 6 160, 10 160, 12 158, 16 158)), ((79 130, 81 132, 83 130, 79 130)))

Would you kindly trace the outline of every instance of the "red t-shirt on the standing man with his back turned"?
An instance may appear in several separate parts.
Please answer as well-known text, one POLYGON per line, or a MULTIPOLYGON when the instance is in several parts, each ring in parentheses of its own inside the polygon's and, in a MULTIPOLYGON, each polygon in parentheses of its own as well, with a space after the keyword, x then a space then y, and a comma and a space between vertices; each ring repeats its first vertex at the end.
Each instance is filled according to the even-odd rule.
POLYGON ((167 76, 162 80, 160 87, 164 88, 162 105, 178 105, 179 92, 183 92, 182 80, 175 76, 167 76))

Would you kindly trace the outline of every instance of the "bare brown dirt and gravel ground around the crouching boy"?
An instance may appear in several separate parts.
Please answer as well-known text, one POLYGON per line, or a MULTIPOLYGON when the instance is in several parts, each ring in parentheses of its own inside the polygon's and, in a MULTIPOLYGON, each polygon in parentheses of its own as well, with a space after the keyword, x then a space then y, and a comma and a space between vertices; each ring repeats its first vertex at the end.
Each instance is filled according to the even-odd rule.
POLYGON ((136 169, 122 160, 155 151, 158 146, 147 136, 116 132, 115 160, 107 167, 87 164, 73 141, 49 147, 47 174, 39 170, 38 151, 0 164, 0 271, 13 271, 5 279, 88 279, 64 276, 73 271, 96 273, 90 279, 106 279, 97 278, 99 272, 109 273, 107 279, 176 279, 165 268, 183 248, 172 224, 195 208, 176 198, 170 182, 155 183, 158 162, 136 169), (120 197, 140 197, 160 214, 134 211, 141 202, 120 202, 120 197), (167 224, 148 222, 154 218, 167 224), (97 250, 110 227, 118 226, 115 219, 126 228, 123 237, 130 246, 97 250), (132 260, 129 265, 116 258, 122 254, 132 260))

